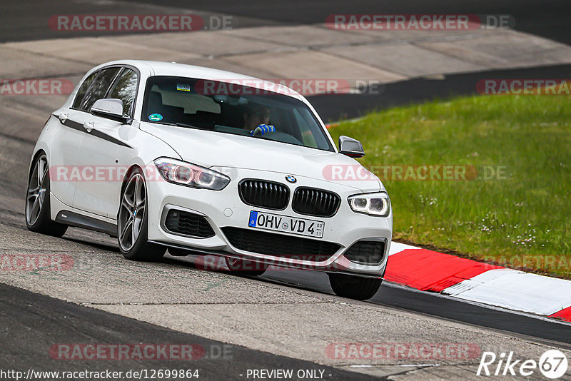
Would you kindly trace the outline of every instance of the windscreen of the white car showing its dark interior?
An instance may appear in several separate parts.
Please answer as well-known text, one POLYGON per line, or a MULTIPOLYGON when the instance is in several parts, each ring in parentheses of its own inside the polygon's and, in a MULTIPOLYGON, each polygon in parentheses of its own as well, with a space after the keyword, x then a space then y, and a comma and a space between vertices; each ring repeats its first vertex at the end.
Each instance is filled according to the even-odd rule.
POLYGON ((252 108, 263 107, 270 113, 268 124, 276 128, 276 131, 264 134, 263 138, 330 150, 330 143, 317 121, 295 98, 268 93, 248 96, 203 94, 195 91, 193 81, 196 80, 183 79, 186 81, 184 85, 177 77, 149 78, 143 121, 250 136, 251 129, 245 127, 244 115, 252 108))

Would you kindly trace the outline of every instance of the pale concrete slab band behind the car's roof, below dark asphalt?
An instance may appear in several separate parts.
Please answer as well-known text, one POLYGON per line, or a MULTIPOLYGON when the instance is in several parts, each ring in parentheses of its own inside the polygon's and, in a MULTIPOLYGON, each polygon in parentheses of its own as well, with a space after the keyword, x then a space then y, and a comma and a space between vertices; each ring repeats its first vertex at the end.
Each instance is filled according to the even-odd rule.
POLYGON ((5 78, 72 75, 113 59, 208 64, 270 78, 383 83, 571 63, 571 47, 521 32, 333 31, 323 24, 0 44, 5 78), (208 60, 208 61, 205 61, 208 60))

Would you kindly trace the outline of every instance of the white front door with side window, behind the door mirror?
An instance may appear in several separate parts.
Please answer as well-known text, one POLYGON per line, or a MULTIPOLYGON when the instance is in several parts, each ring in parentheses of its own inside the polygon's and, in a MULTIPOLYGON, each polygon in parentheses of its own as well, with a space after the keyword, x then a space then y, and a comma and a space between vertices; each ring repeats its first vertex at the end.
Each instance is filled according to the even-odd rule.
MULTIPOLYGON (((133 117, 133 106, 138 88, 138 73, 134 68, 121 68, 105 96, 123 101, 123 116, 133 117)), ((90 99, 90 107, 96 99, 90 99)), ((121 180, 133 156, 127 143, 133 126, 89 114, 86 131, 79 146, 81 167, 86 168, 83 181, 76 184, 74 208, 116 218, 121 192, 121 180)))

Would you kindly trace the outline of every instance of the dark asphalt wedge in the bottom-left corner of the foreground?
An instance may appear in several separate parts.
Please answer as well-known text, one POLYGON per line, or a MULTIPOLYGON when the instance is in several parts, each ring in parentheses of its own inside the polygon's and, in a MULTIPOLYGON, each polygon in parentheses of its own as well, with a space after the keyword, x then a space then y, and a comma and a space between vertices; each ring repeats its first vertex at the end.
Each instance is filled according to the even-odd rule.
MULTIPOLYGON (((62 300, 46 298, 19 288, 0 285, 0 325, 9 327, 14 337, 26 337, 28 340, 17 340, 13 345, 3 345, 0 350, 2 367, 12 369, 61 368, 61 362, 46 356, 46 347, 51 342, 192 342, 200 345, 204 356, 193 362, 194 369, 207 380, 232 380, 246 374, 248 368, 294 368, 323 370, 326 380, 368 380, 369 377, 354 372, 324 367, 312 362, 294 360, 288 357, 270 355, 266 352, 248 350, 236 345, 207 340, 196 335, 188 335, 163 327, 139 322, 91 308, 81 307, 62 300), (26 303, 22 303, 26 300, 26 303), (43 312, 50 311, 49 314, 43 312), (39 313, 40 312, 40 313, 39 313), (62 323, 65 322, 65 323, 62 323), (96 323, 96 324, 94 324, 96 323), (33 333, 30 327, 36 327, 33 333), (224 355, 226 354, 226 355, 224 355), (46 358, 47 357, 47 358, 46 358), (39 360, 45 359, 45 360, 39 360), (212 362, 216 366, 211 366, 212 362)), ((91 360, 69 362, 65 370, 89 369, 91 360)), ((127 372, 148 367, 143 360, 126 360, 117 362, 108 360, 101 364, 114 371, 127 372)), ((186 369, 188 360, 156 360, 153 367, 162 369, 186 369)))

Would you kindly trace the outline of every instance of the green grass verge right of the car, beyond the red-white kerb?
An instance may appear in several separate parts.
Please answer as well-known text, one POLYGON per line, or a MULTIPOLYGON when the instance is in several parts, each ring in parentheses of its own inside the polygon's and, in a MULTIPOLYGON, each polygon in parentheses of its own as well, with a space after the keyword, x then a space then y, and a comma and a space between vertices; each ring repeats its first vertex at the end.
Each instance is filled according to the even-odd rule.
POLYGON ((571 98, 473 96, 372 113, 330 129, 365 166, 468 165, 468 181, 383 179, 393 239, 571 278, 571 98), (485 179, 484 166, 505 168, 485 179))

